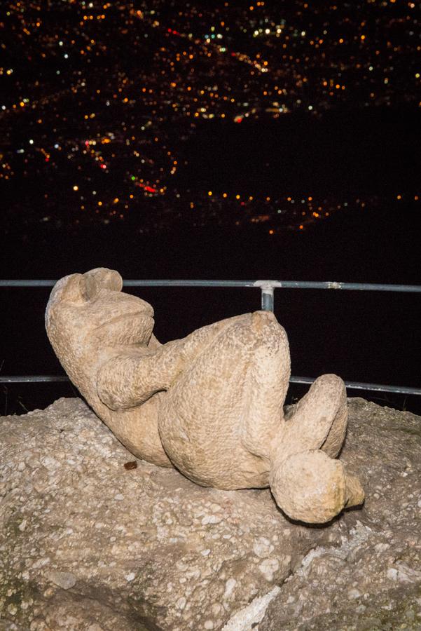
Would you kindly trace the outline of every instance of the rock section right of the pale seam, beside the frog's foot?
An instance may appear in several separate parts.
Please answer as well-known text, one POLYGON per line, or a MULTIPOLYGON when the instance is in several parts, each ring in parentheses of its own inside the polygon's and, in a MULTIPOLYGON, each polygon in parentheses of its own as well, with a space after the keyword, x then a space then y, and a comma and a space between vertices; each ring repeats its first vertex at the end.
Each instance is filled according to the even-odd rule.
POLYGON ((341 454, 366 489, 345 513, 340 545, 305 557, 258 631, 421 629, 421 418, 362 399, 350 404, 341 454))

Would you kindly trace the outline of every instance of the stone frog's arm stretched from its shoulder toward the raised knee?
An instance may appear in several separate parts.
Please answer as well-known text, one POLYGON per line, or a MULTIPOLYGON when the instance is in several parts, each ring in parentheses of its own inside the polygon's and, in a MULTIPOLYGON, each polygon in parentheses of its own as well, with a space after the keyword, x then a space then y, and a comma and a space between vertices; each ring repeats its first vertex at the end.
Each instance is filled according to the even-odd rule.
POLYGON ((110 409, 126 409, 142 404, 156 392, 167 390, 233 320, 244 317, 221 320, 162 346, 127 347, 127 351, 117 357, 113 355, 102 363, 97 373, 100 400, 110 409))

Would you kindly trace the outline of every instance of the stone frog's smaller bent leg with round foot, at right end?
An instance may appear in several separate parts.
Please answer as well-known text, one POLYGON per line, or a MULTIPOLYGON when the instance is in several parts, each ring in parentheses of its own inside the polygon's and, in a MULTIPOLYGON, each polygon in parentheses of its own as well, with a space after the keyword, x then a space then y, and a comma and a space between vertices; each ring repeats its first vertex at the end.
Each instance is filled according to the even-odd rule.
POLYGON ((272 447, 270 489, 292 519, 324 523, 364 501, 357 478, 334 459, 346 428, 345 384, 324 374, 298 402, 272 447))

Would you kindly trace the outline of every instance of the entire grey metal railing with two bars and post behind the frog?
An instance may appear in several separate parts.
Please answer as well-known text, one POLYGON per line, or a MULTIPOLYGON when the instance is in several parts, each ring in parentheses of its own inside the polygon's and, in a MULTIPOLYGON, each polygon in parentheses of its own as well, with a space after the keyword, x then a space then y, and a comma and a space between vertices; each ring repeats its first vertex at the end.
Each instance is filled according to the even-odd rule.
MULTIPOLYGON (((56 280, 0 280, 0 287, 53 287, 56 280)), ((421 293, 421 285, 385 285, 381 283, 337 283, 329 280, 125 280, 125 287, 256 287, 261 290, 261 308, 273 311, 275 289, 322 289, 350 290, 371 292, 421 293)), ((0 383, 23 384, 69 381, 60 375, 14 375, 1 376, 0 383)), ((291 376, 292 384, 312 384, 315 377, 291 376)), ((345 386, 352 390, 378 391, 406 395, 421 395, 421 388, 407 386, 385 386, 366 384, 358 381, 345 381, 345 386)))

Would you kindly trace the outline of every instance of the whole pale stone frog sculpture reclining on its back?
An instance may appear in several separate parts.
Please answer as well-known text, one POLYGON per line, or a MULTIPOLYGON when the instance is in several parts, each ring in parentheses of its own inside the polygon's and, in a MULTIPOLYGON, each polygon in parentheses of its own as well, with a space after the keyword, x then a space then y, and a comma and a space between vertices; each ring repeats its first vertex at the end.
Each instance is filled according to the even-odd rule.
POLYGON ((284 416, 289 345, 275 315, 238 315, 160 344, 153 308, 122 287, 104 268, 62 278, 46 329, 71 381, 130 452, 202 486, 269 486, 293 520, 327 522, 364 501, 336 459, 343 381, 319 377, 284 416))

